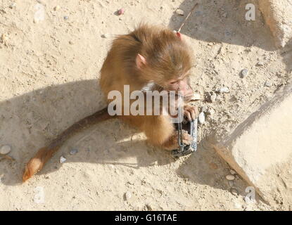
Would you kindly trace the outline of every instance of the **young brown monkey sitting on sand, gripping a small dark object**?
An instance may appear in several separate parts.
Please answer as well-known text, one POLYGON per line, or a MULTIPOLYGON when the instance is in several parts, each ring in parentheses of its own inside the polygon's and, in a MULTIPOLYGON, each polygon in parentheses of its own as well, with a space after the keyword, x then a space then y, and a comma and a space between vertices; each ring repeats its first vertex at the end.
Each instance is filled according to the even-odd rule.
MULTIPOLYGON (((124 85, 129 85, 130 92, 145 89, 182 91, 184 99, 187 100, 193 95, 189 86, 191 67, 189 47, 179 32, 158 26, 140 25, 133 32, 120 35, 113 41, 101 68, 101 90, 105 96, 113 90, 123 94, 124 85)), ((110 101, 113 100, 108 99, 108 103, 110 101)), ((188 120, 193 120, 198 115, 198 110, 193 105, 184 104, 184 115, 188 120)), ((167 150, 178 146, 177 131, 170 115, 110 116, 108 108, 104 108, 73 124, 51 141, 49 146, 39 149, 27 163, 23 181, 39 172, 72 134, 113 117, 118 117, 143 131, 154 146, 167 150)), ((190 144, 191 140, 191 136, 184 131, 183 142, 190 144)))

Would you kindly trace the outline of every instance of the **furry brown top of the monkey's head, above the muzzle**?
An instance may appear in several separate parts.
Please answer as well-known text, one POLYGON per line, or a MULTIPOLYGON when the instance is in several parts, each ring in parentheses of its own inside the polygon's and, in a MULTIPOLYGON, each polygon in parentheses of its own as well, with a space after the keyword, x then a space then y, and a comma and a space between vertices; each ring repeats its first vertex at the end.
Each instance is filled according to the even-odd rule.
POLYGON ((190 70, 191 53, 179 32, 142 24, 131 35, 141 42, 136 64, 144 77, 163 83, 190 70))

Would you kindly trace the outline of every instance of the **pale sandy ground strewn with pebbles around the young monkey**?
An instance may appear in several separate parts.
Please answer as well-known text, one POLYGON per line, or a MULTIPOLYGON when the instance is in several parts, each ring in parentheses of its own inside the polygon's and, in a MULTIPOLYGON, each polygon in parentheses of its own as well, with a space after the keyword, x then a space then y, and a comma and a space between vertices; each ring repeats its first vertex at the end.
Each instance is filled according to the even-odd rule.
POLYGON ((176 9, 186 14, 195 2, 0 1, 0 146, 10 145, 15 159, 0 160, 0 210, 291 209, 281 200, 246 203, 248 184, 239 176, 227 181, 230 167, 204 144, 211 134, 228 134, 291 79, 291 45, 274 48, 260 11, 254 22, 244 19, 245 5, 257 1, 199 1, 182 29, 196 58, 193 89, 208 96, 229 88, 213 103, 198 101, 208 110, 197 153, 174 160, 111 120, 72 137, 40 174, 20 183, 38 148, 105 106, 99 70, 115 35, 141 21, 176 30, 184 20, 176 9), (125 15, 114 14, 119 8, 125 15))

